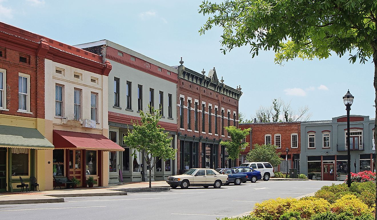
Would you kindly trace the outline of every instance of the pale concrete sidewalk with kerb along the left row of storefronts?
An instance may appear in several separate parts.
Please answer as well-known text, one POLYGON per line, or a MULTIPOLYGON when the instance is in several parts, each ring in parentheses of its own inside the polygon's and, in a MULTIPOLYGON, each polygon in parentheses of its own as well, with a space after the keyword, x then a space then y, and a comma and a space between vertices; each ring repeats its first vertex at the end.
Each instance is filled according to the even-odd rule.
POLYGON ((62 197, 127 195, 127 191, 170 190, 169 185, 165 181, 154 181, 152 182, 152 188, 149 189, 148 187, 149 182, 136 182, 96 188, 54 189, 35 192, 2 192, 0 193, 0 205, 55 203, 64 202, 64 198, 62 197))

